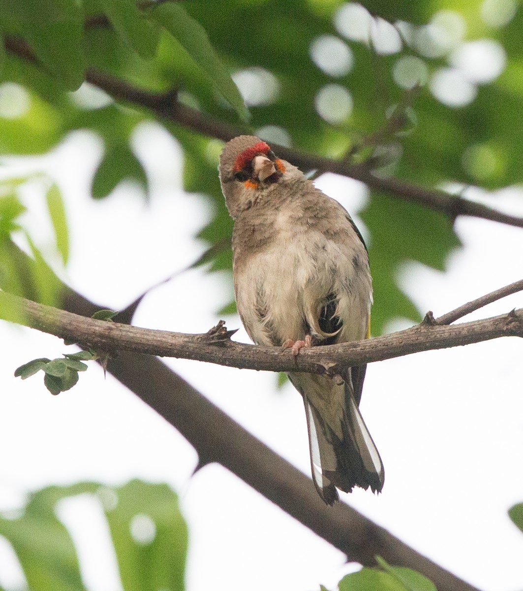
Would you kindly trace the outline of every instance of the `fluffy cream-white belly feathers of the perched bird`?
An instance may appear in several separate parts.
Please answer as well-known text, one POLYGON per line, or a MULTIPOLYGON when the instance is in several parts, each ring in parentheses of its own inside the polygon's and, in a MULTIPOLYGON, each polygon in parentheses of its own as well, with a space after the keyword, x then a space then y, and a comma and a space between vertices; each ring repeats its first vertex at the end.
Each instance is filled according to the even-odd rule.
POLYGON ((300 232, 285 212, 279 213, 274 228, 272 244, 252 255, 240 275, 235 270, 238 312, 251 339, 280 345, 286 339, 303 339, 308 327, 313 335, 325 336, 318 319, 330 294, 338 298, 336 316, 343 322, 338 340, 364 338, 371 280, 366 265, 355 268, 355 257, 364 248, 361 242, 342 248, 321 232, 300 232))

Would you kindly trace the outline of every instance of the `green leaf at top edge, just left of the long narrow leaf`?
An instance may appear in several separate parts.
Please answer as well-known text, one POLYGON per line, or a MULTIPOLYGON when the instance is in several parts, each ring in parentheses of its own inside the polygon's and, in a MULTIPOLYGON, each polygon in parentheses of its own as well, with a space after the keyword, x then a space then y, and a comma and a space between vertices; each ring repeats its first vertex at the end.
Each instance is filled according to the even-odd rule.
POLYGON ((143 18, 135 0, 101 0, 99 5, 129 47, 145 59, 154 56, 159 38, 158 27, 143 18))

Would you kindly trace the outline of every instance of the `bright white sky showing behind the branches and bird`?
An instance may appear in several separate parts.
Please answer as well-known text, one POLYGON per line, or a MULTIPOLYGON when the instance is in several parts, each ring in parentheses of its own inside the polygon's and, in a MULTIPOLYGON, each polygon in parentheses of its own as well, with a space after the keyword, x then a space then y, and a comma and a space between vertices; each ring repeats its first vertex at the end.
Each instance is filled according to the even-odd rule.
MULTIPOLYGON (((74 134, 51 157, 10 168, 19 174, 45 167, 59 181, 73 236, 68 281, 115 309, 194 261, 204 245, 192 236, 211 216, 204 199, 180 190, 179 150, 166 134, 145 126, 138 145, 151 175, 150 205, 132 187, 90 200, 87 181, 100 146, 87 134, 74 134)), ((329 175, 319 184, 351 213, 364 202, 355 182, 329 175)), ((522 194, 501 191, 489 203, 523 215, 522 194)), ((27 225, 40 246, 50 248, 40 185, 24 198, 31 208, 27 225)), ((401 271, 401 285, 423 313, 442 314, 523 275, 523 230, 476 219, 460 219, 456 228, 465 248, 451 256, 446 273, 419 264, 401 271)), ((227 275, 186 272, 145 298, 135 324, 204 332, 231 294, 227 275)), ((522 300, 516 294, 470 319, 522 307, 522 300)), ((237 317, 225 320, 230 328, 240 326, 237 317)), ((48 394, 39 376, 15 379, 18 365, 67 349, 34 330, 0 323, 0 331, 9 343, 0 366, 0 509, 51 483, 119 484, 136 477, 168 482, 181 496, 189 525, 189 591, 308 591, 320 583, 334 589, 354 570, 341 552, 220 466, 190 478, 192 447, 111 376, 104 379, 96 365, 58 397, 48 394)), ((248 340, 243 330, 238 339, 248 340)), ((523 535, 506 514, 523 501, 522 352, 521 340, 505 338, 370 365, 362 414, 383 458, 385 487, 379 496, 359 489, 341 493, 401 540, 486 590, 514 589, 523 580, 523 535)), ((169 365, 309 475, 305 414, 290 385, 276 392, 272 374, 182 360, 169 365)), ((90 530, 79 548, 89 591, 118 589, 96 506, 80 499, 60 515, 71 531, 90 530)), ((2 559, 4 550, 0 544, 0 586, 9 587, 19 574, 2 559)))

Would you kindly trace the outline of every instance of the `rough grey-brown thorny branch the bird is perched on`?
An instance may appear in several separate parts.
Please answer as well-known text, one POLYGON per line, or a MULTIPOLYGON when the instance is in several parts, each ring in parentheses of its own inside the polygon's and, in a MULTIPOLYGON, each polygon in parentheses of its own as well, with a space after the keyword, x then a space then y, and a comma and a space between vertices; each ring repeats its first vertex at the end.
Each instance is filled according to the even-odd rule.
POLYGON ((423 322, 410 329, 353 343, 302 349, 260 347, 220 337, 185 335, 94 320, 0 291, 0 317, 51 333, 86 348, 196 359, 243 369, 306 371, 336 375, 347 366, 383 361, 420 351, 470 345, 502 336, 523 336, 523 309, 475 322, 440 326, 423 322))

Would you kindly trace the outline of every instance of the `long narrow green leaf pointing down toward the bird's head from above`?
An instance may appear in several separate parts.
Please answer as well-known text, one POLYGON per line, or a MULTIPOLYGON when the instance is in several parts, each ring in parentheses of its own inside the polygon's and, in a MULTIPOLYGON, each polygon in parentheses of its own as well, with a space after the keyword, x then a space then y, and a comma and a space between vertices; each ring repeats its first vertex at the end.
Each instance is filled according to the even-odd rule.
POLYGON ((151 10, 151 17, 178 40, 189 56, 207 74, 214 88, 246 120, 249 111, 227 68, 211 45, 205 29, 181 4, 164 2, 151 10))

